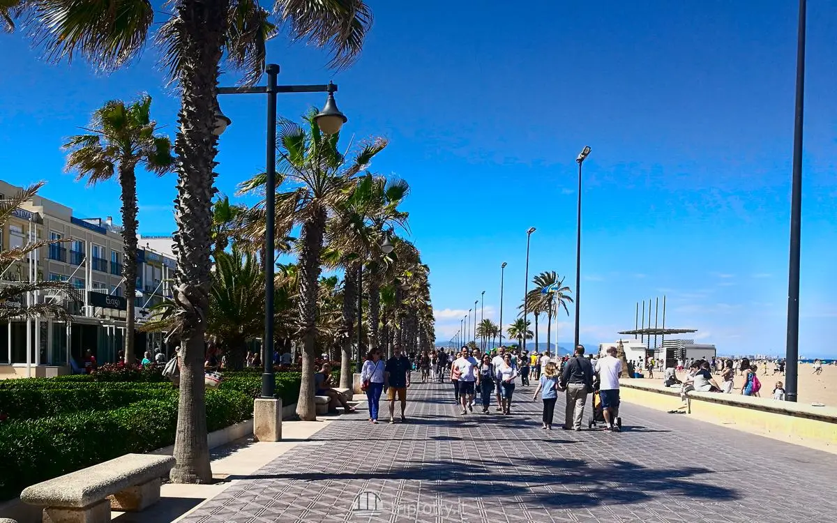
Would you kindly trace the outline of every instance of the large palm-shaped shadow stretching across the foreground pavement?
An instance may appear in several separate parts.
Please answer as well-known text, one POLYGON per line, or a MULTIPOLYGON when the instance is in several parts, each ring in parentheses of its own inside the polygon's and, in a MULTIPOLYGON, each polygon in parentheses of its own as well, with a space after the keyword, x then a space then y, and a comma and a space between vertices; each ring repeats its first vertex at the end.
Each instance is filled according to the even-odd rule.
POLYGON ((229 476, 228 479, 249 479, 254 483, 275 479, 289 482, 421 481, 423 492, 435 493, 446 499, 479 497, 484 504, 499 504, 513 499, 516 504, 562 509, 636 504, 655 495, 683 496, 690 503, 737 500, 741 497, 737 490, 698 478, 703 474, 714 474, 711 469, 702 467, 652 469, 628 461, 557 457, 509 460, 496 456, 494 459, 469 459, 467 464, 447 459, 422 464, 403 463, 406 466, 398 468, 401 464, 396 462, 393 469, 386 471, 254 474, 229 476))

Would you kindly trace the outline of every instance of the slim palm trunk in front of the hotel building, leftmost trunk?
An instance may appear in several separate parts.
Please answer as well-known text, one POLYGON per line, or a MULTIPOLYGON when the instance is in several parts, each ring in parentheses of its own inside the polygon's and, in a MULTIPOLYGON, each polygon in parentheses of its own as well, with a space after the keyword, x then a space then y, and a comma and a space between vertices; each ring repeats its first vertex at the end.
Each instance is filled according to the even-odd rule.
POLYGON ((136 301, 136 173, 134 166, 119 166, 119 183, 122 187, 122 270, 125 276, 125 362, 134 362, 134 306, 136 301))

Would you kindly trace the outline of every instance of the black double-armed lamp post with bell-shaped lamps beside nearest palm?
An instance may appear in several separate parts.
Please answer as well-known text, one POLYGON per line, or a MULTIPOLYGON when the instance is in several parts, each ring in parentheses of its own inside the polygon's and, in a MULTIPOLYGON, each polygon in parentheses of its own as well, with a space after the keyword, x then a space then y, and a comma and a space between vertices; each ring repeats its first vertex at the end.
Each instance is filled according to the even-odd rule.
MULTIPOLYGON (((329 82, 327 85, 276 85, 279 75, 279 65, 267 64, 267 85, 255 87, 219 87, 218 95, 267 95, 267 172, 265 181, 266 196, 264 197, 265 238, 264 252, 269 259, 264 260, 264 341, 262 343, 262 374, 261 397, 274 397, 276 381, 273 373, 273 321, 274 321, 274 266, 275 266, 275 192, 276 192, 276 95, 279 93, 328 93, 326 105, 314 118, 317 126, 326 135, 333 135, 340 131, 346 123, 346 115, 337 109, 334 93, 337 86, 329 82)), ((215 136, 232 123, 227 116, 217 110, 215 118, 215 136)), ((358 349, 359 350, 359 349, 358 349)))

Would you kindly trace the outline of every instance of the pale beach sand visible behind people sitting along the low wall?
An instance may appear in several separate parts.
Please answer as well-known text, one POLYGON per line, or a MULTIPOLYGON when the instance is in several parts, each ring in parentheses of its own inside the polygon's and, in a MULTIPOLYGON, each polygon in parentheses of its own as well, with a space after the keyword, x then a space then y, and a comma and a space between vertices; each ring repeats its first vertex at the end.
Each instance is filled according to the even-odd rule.
MULTIPOLYGON (((758 381, 762 382, 761 396, 765 399, 773 397, 773 387, 776 382, 785 381, 785 377, 778 372, 773 374, 773 365, 768 365, 768 373, 764 373, 764 365, 762 362, 756 363, 758 366, 758 381)), ((824 365, 823 372, 819 375, 813 374, 814 366, 810 363, 800 363, 798 372, 798 403, 824 403, 829 407, 837 407, 837 366, 824 365)), ((684 373, 678 373, 677 377, 683 379, 684 373)), ((713 375, 721 384, 721 377, 713 375)), ((643 378, 648 380, 650 378, 643 378)), ((654 373, 654 381, 662 382, 663 372, 654 373)), ((735 387, 732 393, 737 394, 741 392, 741 387, 744 384, 744 378, 737 376, 735 379, 735 387)))

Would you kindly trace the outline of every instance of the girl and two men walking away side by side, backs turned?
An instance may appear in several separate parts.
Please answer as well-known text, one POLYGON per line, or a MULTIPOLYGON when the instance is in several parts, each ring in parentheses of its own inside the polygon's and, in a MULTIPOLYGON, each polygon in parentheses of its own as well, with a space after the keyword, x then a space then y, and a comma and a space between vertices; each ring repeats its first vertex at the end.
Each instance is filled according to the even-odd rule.
POLYGON ((616 347, 608 348, 608 356, 598 358, 595 367, 584 357, 584 346, 576 347, 574 357, 567 360, 560 377, 555 363, 550 361, 543 367, 541 379, 532 399, 541 392, 543 400, 543 426, 552 430, 552 418, 557 402, 557 393, 566 390, 567 407, 564 410, 565 430, 581 430, 584 417, 584 404, 587 396, 593 392, 593 379, 598 376, 599 397, 602 402, 606 432, 619 432, 614 421, 619 414, 619 374, 622 372, 622 362, 616 357, 616 347))

